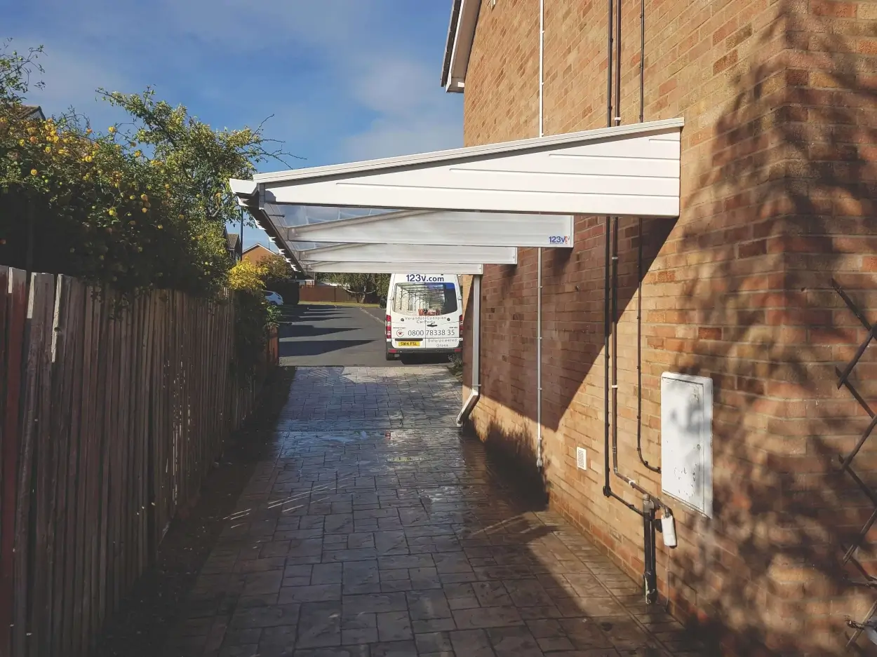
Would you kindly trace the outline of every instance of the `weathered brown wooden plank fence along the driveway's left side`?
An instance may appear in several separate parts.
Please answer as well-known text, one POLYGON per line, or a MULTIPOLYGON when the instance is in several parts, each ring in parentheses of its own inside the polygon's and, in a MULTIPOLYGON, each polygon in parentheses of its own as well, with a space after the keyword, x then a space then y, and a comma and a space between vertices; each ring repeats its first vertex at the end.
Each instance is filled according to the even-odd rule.
POLYGON ((89 653, 277 362, 231 303, 0 266, 0 657, 89 653))

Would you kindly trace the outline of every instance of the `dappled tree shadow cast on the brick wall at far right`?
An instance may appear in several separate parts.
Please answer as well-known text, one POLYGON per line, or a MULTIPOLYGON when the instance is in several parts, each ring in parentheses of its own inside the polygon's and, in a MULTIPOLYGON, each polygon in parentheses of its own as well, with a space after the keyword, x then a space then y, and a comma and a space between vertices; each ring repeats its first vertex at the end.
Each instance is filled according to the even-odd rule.
MULTIPOLYGON (((722 335, 695 341, 673 367, 721 372, 713 377, 721 467, 715 519, 696 527, 700 546, 674 554, 673 570, 686 574, 698 606, 717 619, 704 629, 738 654, 759 654, 761 645, 781 654, 842 653, 851 633, 844 615, 863 620, 877 600, 848 583, 862 576, 842 563, 873 505, 852 477, 838 474, 838 457, 852 450, 868 416, 850 392, 838 391, 834 370, 852 359, 855 346, 846 345, 866 332, 831 286, 837 279, 859 306, 877 292, 877 279, 847 255, 866 254, 877 232, 868 170, 877 88, 864 58, 851 54, 856 40, 838 33, 850 25, 809 11, 816 9, 781 0, 779 18, 752 51, 761 61, 734 78, 737 95, 718 121, 711 162, 697 181, 702 191, 688 210, 693 219, 680 228, 678 251, 709 250, 683 294, 688 313, 722 335), (731 221, 716 230, 709 215, 731 221), (712 293, 703 287, 710 281, 712 293)), ((877 321, 877 307, 864 313, 877 321)), ((875 352, 866 350, 851 378, 872 407, 875 352)), ((852 467, 877 483, 877 436, 852 467)), ((873 547, 856 559, 877 574, 873 547)), ((873 653, 864 637, 859 646, 873 653)))

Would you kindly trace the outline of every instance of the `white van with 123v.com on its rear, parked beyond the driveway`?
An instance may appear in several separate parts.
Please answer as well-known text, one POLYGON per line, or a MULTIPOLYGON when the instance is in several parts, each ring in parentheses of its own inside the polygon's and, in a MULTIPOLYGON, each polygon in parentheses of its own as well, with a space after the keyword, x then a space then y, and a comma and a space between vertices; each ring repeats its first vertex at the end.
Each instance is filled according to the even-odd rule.
POLYGON ((463 349, 463 297, 457 274, 399 273, 387 291, 387 360, 463 349))

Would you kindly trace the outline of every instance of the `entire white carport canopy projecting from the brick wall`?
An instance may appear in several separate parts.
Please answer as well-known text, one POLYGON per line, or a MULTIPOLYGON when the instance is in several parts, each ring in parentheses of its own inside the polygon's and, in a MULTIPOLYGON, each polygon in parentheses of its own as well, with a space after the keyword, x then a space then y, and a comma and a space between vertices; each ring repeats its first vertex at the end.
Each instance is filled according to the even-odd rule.
POLYGON ((678 216, 682 125, 261 173, 232 191, 305 271, 480 273, 517 262, 515 247, 571 247, 573 215, 678 216), (389 209, 289 226, 284 205, 389 209))

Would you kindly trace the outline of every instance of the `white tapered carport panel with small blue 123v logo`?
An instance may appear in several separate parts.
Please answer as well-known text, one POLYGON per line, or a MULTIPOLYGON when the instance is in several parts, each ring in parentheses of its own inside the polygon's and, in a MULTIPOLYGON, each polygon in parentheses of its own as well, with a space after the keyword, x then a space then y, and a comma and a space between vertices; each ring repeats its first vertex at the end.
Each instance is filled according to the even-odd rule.
POLYGON ((359 244, 573 246, 572 215, 407 211, 286 229, 288 241, 359 244))

